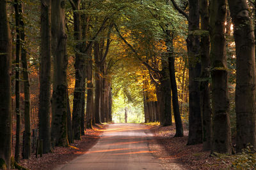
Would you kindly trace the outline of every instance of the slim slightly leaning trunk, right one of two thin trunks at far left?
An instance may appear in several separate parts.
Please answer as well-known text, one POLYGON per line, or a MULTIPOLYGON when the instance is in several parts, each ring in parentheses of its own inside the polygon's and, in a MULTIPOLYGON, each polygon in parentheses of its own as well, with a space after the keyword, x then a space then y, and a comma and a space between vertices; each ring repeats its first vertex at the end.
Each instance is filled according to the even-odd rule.
POLYGON ((28 70, 28 60, 27 52, 25 48, 25 27, 24 18, 22 17, 22 6, 20 4, 20 39, 22 41, 21 45, 21 62, 22 62, 22 75, 24 81, 24 119, 25 119, 25 139, 24 139, 24 159, 30 159, 31 156, 31 127, 30 127, 30 115, 31 115, 31 104, 30 104, 30 83, 29 83, 29 70, 28 70))

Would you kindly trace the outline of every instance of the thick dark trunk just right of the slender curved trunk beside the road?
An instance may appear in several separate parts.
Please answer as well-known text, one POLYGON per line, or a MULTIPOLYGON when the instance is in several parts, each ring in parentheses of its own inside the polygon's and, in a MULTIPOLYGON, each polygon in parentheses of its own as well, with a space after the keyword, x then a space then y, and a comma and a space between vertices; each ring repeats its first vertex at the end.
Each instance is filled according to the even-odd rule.
POLYGON ((202 120, 200 111, 199 81, 201 73, 200 40, 193 31, 199 30, 199 1, 189 0, 189 35, 187 38, 189 58, 189 134, 188 145, 202 143, 202 120))

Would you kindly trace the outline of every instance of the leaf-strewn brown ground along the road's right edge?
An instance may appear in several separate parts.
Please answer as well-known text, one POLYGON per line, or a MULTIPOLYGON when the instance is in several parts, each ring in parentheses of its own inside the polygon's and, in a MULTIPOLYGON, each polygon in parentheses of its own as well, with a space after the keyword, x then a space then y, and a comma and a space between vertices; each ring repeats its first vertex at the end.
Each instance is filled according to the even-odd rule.
POLYGON ((204 152, 202 144, 186 145, 188 130, 184 130, 184 137, 173 138, 174 124, 167 127, 149 126, 156 138, 149 143, 149 148, 157 151, 154 155, 161 160, 164 169, 173 169, 173 163, 182 164, 187 169, 230 169, 229 159, 223 159, 218 155, 212 156, 211 152, 204 152))

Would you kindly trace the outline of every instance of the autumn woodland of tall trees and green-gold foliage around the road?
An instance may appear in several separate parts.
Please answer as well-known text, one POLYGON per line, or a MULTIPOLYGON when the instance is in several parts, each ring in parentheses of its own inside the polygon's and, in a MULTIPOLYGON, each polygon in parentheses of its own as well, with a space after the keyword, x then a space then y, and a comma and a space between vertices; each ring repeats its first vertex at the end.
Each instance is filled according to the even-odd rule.
POLYGON ((255 16, 253 0, 0 0, 0 169, 104 122, 255 146, 255 16))

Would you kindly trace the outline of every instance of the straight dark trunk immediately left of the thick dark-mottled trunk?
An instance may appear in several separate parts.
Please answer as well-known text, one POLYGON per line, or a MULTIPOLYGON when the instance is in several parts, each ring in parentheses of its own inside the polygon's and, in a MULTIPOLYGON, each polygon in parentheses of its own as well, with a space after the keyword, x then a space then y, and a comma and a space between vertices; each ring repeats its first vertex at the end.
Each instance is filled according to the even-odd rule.
POLYGON ((41 0, 39 139, 43 140, 43 153, 51 146, 51 0, 41 0))

